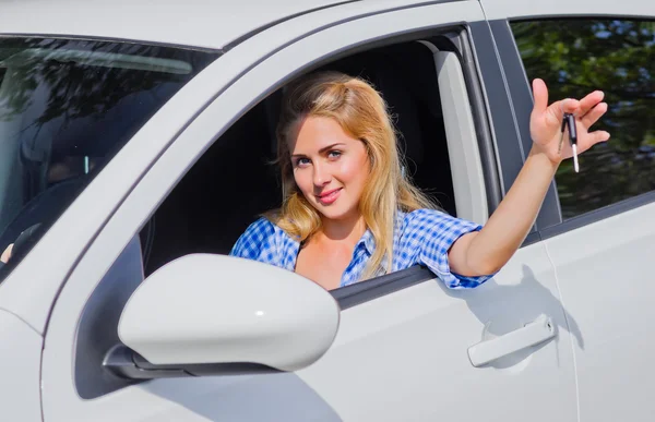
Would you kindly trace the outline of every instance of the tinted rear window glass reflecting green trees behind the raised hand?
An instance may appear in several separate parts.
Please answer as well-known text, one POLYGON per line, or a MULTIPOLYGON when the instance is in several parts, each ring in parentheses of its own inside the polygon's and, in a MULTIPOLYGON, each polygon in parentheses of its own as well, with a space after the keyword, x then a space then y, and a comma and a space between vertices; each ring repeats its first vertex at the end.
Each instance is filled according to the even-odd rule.
POLYGON ((560 166, 556 183, 569 219, 655 190, 655 22, 548 20, 513 22, 525 72, 550 98, 605 92, 609 109, 594 129, 610 142, 560 166))

